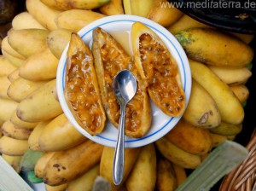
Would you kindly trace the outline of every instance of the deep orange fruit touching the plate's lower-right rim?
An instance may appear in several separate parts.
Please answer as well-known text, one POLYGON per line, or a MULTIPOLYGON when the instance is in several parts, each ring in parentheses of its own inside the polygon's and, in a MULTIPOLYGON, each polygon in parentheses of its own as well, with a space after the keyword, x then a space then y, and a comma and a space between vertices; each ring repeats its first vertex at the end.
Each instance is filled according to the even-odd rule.
POLYGON ((182 119, 166 134, 166 139, 188 153, 204 155, 212 149, 209 131, 184 122, 182 119))

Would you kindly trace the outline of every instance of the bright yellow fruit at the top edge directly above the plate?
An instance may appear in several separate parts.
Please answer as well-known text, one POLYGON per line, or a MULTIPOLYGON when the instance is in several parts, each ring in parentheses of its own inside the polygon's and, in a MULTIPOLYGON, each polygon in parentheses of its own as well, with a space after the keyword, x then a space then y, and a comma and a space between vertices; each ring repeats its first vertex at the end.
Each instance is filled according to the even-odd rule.
POLYGON ((123 0, 125 14, 134 14, 147 17, 149 10, 154 6, 154 0, 123 0))

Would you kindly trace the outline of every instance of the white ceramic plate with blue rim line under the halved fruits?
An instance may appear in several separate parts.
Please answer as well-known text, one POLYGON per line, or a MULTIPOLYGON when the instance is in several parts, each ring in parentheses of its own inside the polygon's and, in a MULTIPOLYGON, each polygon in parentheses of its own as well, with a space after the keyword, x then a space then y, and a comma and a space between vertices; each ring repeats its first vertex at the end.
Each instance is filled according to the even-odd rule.
MULTIPOLYGON (((78 33, 79 36, 84 40, 84 43, 90 45, 92 40, 92 31, 96 27, 102 27, 102 29, 110 33, 118 31, 131 31, 131 25, 136 21, 140 21, 144 25, 150 27, 163 40, 163 42, 166 43, 167 48, 170 50, 172 56, 177 61, 183 83, 183 90, 185 91, 186 103, 188 103, 191 90, 191 73, 189 61, 183 51, 182 46, 177 42, 177 39, 174 38, 172 34, 168 32, 163 26, 160 26, 154 21, 143 17, 124 14, 108 16, 100 20, 96 20, 90 23, 90 25, 84 26, 84 28, 78 33)), ((107 122, 104 130, 100 135, 90 136, 90 134, 87 133, 81 126, 79 126, 77 121, 73 118, 73 113, 71 113, 67 107, 67 102, 65 101, 64 97, 66 60, 67 47, 61 55, 57 69, 58 97, 61 103, 61 107, 67 116, 67 119, 77 130, 79 130, 80 133, 88 137, 90 140, 108 147, 115 147, 118 137, 118 130, 110 122, 107 122)), ((171 118, 166 116, 166 114, 162 113, 160 109, 154 106, 152 101, 151 107, 153 120, 148 134, 142 138, 131 138, 129 136, 125 136, 125 148, 137 148, 142 147, 143 145, 147 145, 148 143, 155 142, 156 140, 160 139, 160 137, 165 136, 167 132, 172 130, 173 126, 177 124, 178 120, 180 119, 180 117, 171 118)))

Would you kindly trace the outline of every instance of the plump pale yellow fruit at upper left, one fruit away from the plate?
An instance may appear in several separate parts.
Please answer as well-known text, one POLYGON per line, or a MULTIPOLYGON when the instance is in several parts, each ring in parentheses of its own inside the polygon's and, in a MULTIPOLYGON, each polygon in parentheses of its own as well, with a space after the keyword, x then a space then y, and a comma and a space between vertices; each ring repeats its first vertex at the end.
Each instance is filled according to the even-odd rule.
POLYGON ((9 45, 26 58, 47 48, 48 31, 44 29, 11 29, 8 32, 9 45))

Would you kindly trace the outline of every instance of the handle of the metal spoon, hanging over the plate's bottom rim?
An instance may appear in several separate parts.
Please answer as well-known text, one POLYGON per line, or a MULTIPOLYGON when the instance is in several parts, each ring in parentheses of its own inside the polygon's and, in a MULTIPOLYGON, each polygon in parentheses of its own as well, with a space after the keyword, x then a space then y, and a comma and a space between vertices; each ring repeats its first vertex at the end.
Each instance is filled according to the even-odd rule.
POLYGON ((113 157, 113 183, 119 185, 123 180, 125 165, 125 107, 121 104, 119 135, 113 157))

